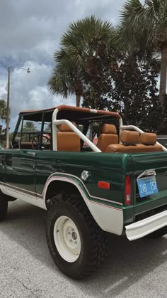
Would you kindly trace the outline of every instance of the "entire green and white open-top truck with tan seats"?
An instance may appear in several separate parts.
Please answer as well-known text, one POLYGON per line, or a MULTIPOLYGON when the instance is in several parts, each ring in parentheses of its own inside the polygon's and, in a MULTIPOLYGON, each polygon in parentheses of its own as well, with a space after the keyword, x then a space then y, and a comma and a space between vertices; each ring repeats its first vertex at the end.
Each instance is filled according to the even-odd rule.
POLYGON ((11 148, 0 151, 0 219, 17 198, 47 210, 55 264, 86 277, 105 260, 108 233, 166 235, 166 151, 156 134, 124 126, 117 112, 66 105, 21 112, 11 148))

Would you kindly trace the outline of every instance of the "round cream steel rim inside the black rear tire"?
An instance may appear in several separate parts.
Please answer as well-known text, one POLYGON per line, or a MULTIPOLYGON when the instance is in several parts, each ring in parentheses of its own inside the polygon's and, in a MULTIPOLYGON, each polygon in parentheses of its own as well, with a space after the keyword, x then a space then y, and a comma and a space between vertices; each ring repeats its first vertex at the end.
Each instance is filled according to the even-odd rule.
POLYGON ((59 255, 67 262, 75 262, 81 252, 81 238, 74 221, 67 216, 59 216, 54 223, 53 234, 59 255))

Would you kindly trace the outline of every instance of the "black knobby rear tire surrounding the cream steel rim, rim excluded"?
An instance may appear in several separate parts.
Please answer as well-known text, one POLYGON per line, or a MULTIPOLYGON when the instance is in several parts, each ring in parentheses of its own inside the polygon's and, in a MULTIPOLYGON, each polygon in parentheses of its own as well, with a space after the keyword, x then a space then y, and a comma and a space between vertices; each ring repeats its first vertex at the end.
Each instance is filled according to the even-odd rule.
POLYGON ((107 255, 107 236, 101 230, 84 201, 79 196, 62 196, 61 200, 54 200, 47 215, 46 238, 52 258, 65 275, 79 280, 95 272, 107 255), (54 223, 60 216, 67 216, 73 220, 81 239, 81 252, 74 262, 67 262, 59 254, 54 243, 54 223))

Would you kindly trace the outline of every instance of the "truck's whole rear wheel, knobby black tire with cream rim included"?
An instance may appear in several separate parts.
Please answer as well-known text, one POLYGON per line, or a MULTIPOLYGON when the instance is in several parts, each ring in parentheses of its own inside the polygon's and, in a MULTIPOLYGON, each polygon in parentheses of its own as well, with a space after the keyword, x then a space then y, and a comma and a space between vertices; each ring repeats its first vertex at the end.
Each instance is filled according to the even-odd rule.
POLYGON ((107 237, 80 196, 64 194, 54 200, 47 215, 46 237, 59 270, 75 280, 95 272, 105 260, 107 237))

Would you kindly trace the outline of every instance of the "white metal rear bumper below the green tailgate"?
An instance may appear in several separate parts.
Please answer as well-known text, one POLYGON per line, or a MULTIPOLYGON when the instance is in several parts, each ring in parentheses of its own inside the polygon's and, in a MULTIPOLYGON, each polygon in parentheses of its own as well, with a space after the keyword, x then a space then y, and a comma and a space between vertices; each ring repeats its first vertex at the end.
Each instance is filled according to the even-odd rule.
POLYGON ((127 238, 132 241, 159 230, 167 225, 167 211, 125 226, 127 238))

